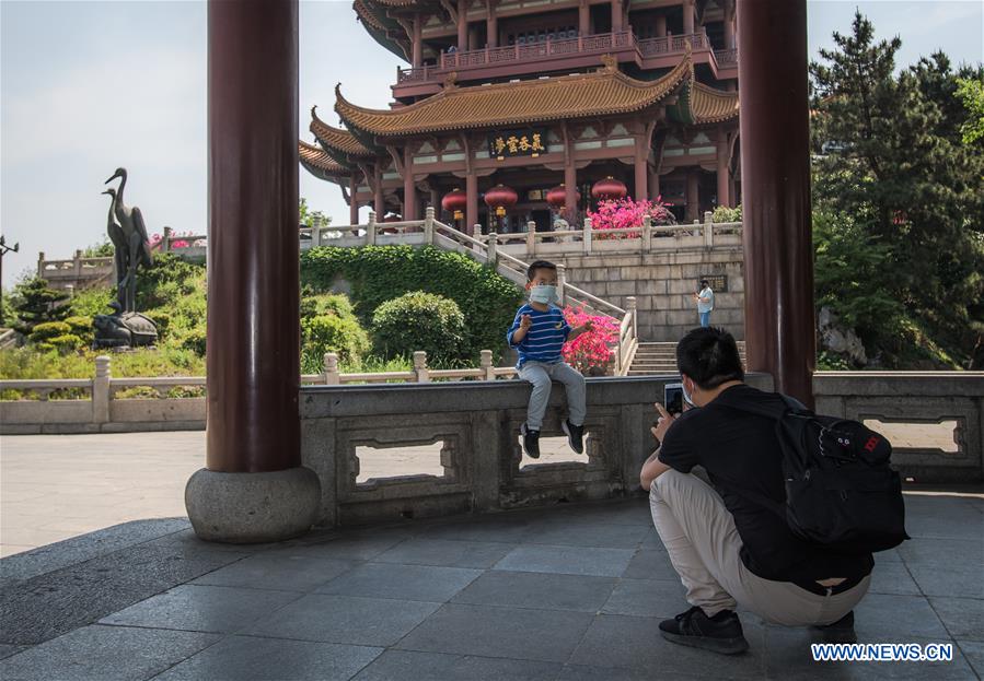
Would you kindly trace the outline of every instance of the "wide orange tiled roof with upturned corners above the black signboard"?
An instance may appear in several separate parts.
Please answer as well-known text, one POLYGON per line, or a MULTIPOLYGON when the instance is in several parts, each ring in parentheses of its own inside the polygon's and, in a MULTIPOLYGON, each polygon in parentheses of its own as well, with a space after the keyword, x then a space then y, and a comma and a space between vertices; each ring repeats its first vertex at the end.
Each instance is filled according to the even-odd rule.
POLYGON ((335 87, 335 110, 349 128, 403 136, 640 111, 658 104, 691 78, 685 57, 656 81, 638 81, 611 69, 560 78, 471 87, 448 87, 396 109, 357 106, 335 87))

